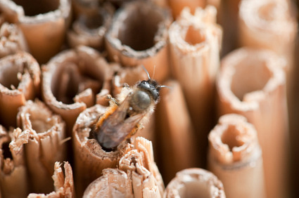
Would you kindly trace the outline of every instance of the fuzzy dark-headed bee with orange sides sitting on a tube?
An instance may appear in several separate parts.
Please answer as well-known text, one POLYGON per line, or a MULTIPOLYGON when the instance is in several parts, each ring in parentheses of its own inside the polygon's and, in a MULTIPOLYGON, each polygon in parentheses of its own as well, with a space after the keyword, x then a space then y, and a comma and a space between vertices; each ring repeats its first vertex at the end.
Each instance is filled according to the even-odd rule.
POLYGON ((109 109, 91 130, 104 150, 115 149, 122 140, 133 136, 139 130, 141 121, 153 112, 158 103, 161 87, 164 86, 160 86, 148 74, 147 80, 139 81, 133 88, 123 88, 120 95, 125 95, 125 100, 120 104, 114 98, 110 100, 109 109))

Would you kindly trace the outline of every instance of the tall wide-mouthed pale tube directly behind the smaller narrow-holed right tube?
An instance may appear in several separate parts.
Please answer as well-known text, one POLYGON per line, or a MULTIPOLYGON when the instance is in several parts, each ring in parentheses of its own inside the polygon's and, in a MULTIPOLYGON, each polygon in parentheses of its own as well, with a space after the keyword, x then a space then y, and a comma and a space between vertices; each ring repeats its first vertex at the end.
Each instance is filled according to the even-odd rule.
POLYGON ((241 114, 262 147, 267 197, 286 197, 288 110, 284 59, 272 51, 240 48, 222 60, 217 79, 220 114, 241 114))

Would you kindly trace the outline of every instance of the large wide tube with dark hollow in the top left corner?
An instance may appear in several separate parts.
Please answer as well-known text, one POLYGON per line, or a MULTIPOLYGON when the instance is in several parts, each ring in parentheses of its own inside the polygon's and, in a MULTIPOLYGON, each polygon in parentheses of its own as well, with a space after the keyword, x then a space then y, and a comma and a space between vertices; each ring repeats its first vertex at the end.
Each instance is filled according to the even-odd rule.
POLYGON ((70 18, 70 1, 0 2, 0 10, 8 22, 22 30, 30 52, 39 62, 46 62, 58 53, 63 44, 70 18))

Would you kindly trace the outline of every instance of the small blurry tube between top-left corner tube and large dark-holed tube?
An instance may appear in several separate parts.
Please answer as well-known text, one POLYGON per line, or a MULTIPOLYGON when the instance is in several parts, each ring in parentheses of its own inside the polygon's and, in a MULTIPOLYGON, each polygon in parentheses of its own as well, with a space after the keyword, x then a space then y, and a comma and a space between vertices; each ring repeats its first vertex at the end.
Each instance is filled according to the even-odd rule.
POLYGON ((72 22, 68 30, 68 44, 74 48, 79 45, 103 49, 103 39, 111 25, 114 8, 110 4, 98 7, 96 11, 82 13, 72 22))

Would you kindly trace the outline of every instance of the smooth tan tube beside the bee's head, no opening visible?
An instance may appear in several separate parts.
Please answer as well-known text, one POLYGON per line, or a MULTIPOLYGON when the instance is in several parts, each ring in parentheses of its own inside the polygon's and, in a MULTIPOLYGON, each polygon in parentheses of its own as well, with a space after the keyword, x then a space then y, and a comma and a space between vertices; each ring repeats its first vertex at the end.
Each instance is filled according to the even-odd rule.
POLYGON ((157 108, 158 151, 163 179, 168 183, 175 173, 197 165, 193 126, 188 114, 182 88, 177 81, 167 81, 161 90, 157 108), (179 119, 177 116, 179 115, 179 119))

